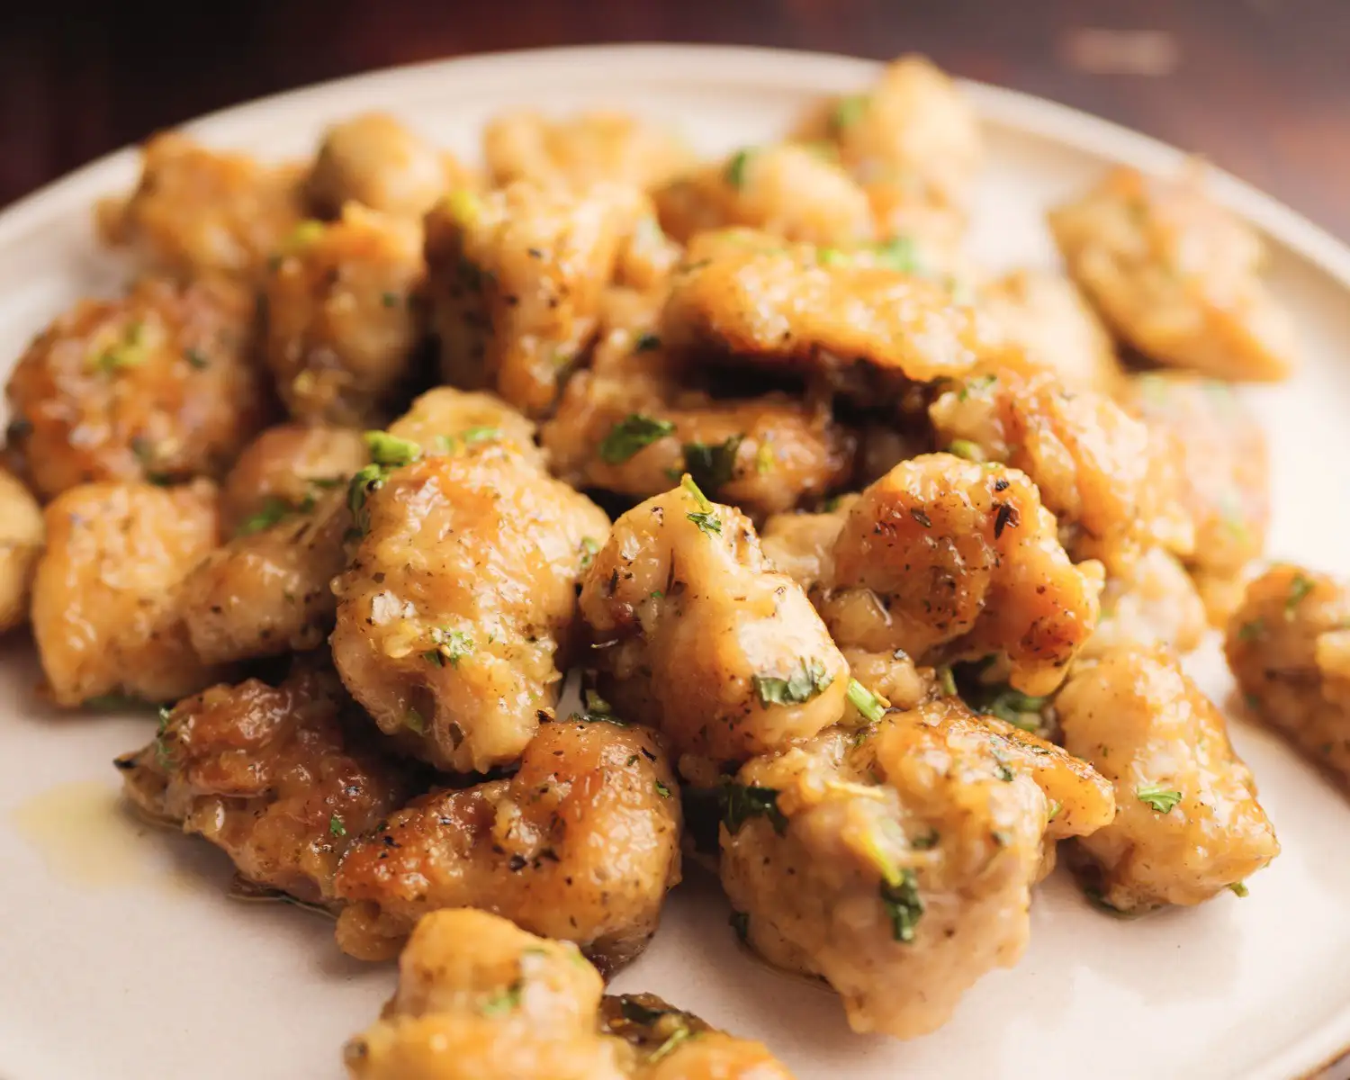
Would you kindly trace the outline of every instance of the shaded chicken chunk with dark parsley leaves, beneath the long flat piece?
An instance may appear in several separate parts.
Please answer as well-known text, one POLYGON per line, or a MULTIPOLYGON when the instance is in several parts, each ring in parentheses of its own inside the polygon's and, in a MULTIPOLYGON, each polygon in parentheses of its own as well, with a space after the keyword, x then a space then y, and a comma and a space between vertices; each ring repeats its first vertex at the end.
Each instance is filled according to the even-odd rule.
POLYGON ((608 324, 590 370, 567 383, 541 439, 576 487, 647 498, 690 473, 711 498, 778 513, 844 482, 853 440, 828 409, 782 393, 717 400, 652 329, 608 324))

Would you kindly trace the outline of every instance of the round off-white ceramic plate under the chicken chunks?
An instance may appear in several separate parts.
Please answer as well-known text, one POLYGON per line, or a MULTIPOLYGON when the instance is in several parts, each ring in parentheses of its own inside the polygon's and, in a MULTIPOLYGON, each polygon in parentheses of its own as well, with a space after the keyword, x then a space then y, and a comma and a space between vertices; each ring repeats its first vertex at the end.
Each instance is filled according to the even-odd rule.
MULTIPOLYGON (((475 155, 491 113, 605 103, 679 124, 706 153, 782 132, 876 65, 792 53, 667 46, 481 57, 343 80, 192 124, 217 146, 306 153, 329 120, 390 109, 475 155)), ((973 252, 992 266, 1053 258, 1041 211, 1106 162, 1149 170, 1179 154, 1081 113, 968 88, 990 165, 973 252)), ((130 185, 122 151, 0 215, 0 356, 77 297, 115 288, 89 208, 130 185)), ((1265 196, 1219 196, 1274 247, 1273 282, 1307 346, 1303 373, 1254 394, 1274 455, 1270 554, 1350 571, 1350 251, 1265 196)), ((1193 667, 1231 682, 1214 643, 1193 667)), ((0 657, 0 1075, 339 1077, 339 1046, 389 994, 389 965, 343 959, 331 925, 224 896, 227 861, 138 826, 111 759, 147 741, 144 717, 58 716, 32 693, 23 644, 0 657)), ((1230 707, 1230 713, 1233 709, 1230 707)), ((651 950, 617 980, 768 1042, 801 1077, 1257 1077, 1316 1071, 1350 1046, 1350 806, 1269 736, 1235 722, 1284 853, 1251 895, 1116 922, 1056 876, 1037 892, 1031 946, 987 976, 953 1021, 898 1044, 852 1035, 829 994, 738 950, 716 886, 691 871, 651 950)))

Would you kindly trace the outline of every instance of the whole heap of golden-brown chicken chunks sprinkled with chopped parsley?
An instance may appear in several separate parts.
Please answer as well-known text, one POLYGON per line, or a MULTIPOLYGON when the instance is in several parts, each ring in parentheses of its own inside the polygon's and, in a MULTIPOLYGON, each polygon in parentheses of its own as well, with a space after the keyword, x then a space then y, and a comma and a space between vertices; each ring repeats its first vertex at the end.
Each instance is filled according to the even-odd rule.
POLYGON ((1014 964, 1060 841, 1116 913, 1241 895, 1278 844, 1177 659, 1237 608, 1256 711, 1350 771, 1350 594, 1242 595, 1227 381, 1292 344, 1199 176, 1116 170, 1050 213, 1064 273, 991 277, 979 127, 918 58, 717 162, 618 113, 483 148, 153 139, 100 208, 135 284, 7 390, 0 606, 51 698, 162 705, 136 806, 354 956, 413 936, 354 1076, 786 1076, 599 1003, 682 802, 734 930, 857 1031, 1014 964))

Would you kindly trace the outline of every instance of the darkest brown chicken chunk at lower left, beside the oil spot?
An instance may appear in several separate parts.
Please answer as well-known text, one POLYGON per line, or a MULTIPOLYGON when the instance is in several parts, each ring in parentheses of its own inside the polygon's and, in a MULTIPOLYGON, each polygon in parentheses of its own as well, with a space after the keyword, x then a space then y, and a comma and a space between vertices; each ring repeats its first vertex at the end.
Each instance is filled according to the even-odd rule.
POLYGON ((165 709, 154 741, 116 765, 140 810, 224 849, 246 882, 332 903, 343 852, 412 794, 352 711, 338 676, 301 660, 281 686, 213 686, 165 709))

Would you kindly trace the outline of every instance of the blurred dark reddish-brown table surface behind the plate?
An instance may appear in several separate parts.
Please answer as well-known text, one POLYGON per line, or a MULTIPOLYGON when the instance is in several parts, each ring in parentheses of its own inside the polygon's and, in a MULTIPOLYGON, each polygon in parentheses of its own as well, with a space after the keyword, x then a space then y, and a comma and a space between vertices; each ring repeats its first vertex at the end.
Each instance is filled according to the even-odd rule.
POLYGON ((0 204, 259 94, 603 40, 922 50, 1203 153, 1350 238, 1350 0, 0 3, 0 204))

